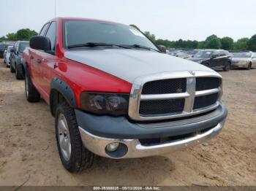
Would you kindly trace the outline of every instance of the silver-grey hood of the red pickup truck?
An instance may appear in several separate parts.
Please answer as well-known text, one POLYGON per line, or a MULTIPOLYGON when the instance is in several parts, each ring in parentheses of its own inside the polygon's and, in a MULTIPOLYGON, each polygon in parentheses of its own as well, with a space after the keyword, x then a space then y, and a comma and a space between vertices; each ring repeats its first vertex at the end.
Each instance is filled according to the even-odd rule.
POLYGON ((69 50, 64 53, 64 56, 131 83, 137 77, 161 72, 213 71, 199 63, 148 50, 97 48, 69 50))

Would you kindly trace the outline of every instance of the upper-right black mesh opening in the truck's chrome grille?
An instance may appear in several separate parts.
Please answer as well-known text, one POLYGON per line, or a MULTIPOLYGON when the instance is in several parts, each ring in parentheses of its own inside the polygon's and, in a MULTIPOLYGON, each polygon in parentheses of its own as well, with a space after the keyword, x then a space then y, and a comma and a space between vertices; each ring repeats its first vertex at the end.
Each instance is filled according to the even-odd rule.
POLYGON ((217 77, 197 77, 196 91, 211 90, 218 88, 221 85, 221 80, 217 77))

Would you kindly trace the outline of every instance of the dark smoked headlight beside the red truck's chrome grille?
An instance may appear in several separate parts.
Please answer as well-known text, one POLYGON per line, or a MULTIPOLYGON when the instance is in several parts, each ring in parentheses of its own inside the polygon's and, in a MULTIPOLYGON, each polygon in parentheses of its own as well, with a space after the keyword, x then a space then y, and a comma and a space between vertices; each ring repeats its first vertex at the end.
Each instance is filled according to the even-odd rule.
POLYGON ((128 113, 129 94, 83 92, 80 109, 93 114, 124 115, 128 113))

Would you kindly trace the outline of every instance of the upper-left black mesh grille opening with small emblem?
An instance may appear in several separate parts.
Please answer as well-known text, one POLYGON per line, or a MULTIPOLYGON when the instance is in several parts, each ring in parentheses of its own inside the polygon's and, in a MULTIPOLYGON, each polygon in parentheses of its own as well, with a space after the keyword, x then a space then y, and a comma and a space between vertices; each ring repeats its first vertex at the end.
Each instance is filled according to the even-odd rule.
POLYGON ((184 93, 187 88, 187 79, 161 79, 146 82, 143 85, 142 94, 164 94, 164 93, 184 93))

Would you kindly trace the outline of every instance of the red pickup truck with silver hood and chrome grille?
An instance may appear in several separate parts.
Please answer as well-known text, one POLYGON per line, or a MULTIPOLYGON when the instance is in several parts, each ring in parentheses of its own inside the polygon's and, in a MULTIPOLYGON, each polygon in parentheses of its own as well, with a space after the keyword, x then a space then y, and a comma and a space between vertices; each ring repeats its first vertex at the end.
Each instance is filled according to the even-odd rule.
POLYGON ((59 17, 23 52, 26 98, 42 97, 70 172, 110 158, 161 155, 222 130, 222 77, 162 52, 132 26, 59 17))

